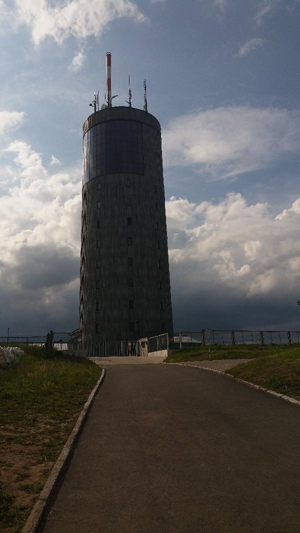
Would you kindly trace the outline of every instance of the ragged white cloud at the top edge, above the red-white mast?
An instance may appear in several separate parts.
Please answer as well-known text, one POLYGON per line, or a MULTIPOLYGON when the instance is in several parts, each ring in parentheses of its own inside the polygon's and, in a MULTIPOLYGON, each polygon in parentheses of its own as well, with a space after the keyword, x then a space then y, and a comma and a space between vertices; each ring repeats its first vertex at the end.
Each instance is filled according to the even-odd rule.
POLYGON ((15 7, 17 23, 30 28, 36 46, 47 36, 58 44, 71 35, 78 39, 99 36, 110 22, 124 17, 148 20, 130 0, 60 0, 53 7, 46 0, 15 0, 15 7))

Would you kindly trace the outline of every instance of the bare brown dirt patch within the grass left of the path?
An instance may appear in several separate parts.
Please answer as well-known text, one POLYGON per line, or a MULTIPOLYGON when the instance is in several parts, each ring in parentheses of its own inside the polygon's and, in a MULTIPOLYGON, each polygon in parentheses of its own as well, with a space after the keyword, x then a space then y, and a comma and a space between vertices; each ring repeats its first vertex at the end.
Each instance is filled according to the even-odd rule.
POLYGON ((3 533, 21 531, 79 412, 80 409, 76 416, 67 420, 63 417, 61 421, 34 417, 30 427, 30 415, 25 427, 0 426, 0 488, 12 498, 9 512, 1 522, 3 533))

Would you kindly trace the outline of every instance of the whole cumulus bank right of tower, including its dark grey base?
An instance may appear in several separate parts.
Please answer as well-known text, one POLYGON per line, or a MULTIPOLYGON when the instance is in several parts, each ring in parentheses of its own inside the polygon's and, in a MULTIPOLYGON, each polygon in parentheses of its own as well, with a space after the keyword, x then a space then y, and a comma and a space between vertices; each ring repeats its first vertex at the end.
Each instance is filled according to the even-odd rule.
POLYGON ((286 318, 292 326, 291 311, 280 313, 286 302, 294 308, 300 282, 300 199, 275 217, 234 192, 215 204, 172 197, 166 213, 177 322, 190 306, 189 318, 198 309, 198 324, 210 316, 212 327, 274 327, 286 318))

